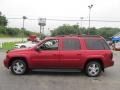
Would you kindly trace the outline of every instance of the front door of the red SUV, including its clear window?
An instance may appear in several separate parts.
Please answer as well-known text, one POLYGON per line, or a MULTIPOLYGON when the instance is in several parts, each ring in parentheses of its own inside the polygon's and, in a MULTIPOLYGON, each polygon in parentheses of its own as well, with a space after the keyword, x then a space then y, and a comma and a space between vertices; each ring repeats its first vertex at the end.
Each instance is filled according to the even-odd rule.
POLYGON ((39 45, 40 51, 34 51, 32 62, 35 68, 56 68, 59 66, 59 40, 47 40, 39 45))

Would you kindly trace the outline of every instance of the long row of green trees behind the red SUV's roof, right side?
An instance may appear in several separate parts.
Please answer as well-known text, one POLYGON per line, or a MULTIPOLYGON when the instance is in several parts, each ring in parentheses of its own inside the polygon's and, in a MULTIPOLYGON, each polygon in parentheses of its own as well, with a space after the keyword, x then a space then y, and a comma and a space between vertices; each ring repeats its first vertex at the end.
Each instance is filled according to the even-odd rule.
POLYGON ((116 33, 120 32, 119 28, 111 28, 111 27, 102 27, 102 28, 80 28, 78 25, 63 25, 59 26, 58 28, 51 31, 51 36, 56 35, 100 35, 104 38, 109 38, 115 35, 116 33))

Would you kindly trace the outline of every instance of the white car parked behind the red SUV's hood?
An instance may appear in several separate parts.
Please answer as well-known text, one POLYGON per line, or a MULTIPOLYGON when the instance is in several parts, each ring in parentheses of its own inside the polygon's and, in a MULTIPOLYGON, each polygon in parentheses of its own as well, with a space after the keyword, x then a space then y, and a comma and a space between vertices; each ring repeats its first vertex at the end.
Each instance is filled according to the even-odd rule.
POLYGON ((36 44, 37 44, 37 42, 28 41, 28 42, 25 42, 25 43, 15 44, 14 47, 15 48, 31 48, 31 47, 34 47, 36 44))

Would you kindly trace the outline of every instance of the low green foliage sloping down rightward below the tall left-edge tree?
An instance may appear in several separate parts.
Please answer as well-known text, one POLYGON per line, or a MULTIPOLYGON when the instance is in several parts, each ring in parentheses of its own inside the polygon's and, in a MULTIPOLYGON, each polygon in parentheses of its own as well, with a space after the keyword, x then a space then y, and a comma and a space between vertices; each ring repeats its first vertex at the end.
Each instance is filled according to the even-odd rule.
POLYGON ((39 34, 35 32, 31 32, 19 28, 8 28, 8 27, 0 26, 0 37, 21 37, 22 35, 26 37, 29 36, 30 34, 35 34, 39 36, 39 34))

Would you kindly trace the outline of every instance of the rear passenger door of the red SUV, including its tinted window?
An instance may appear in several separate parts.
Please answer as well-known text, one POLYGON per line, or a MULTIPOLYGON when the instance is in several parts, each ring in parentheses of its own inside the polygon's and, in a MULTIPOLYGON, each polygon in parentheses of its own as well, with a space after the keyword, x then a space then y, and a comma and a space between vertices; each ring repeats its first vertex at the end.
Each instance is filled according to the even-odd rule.
POLYGON ((81 52, 80 40, 78 38, 63 38, 61 40, 61 67, 76 68, 80 67, 81 52))

